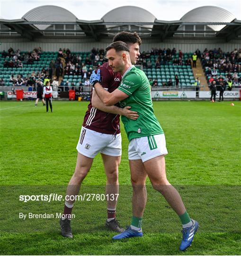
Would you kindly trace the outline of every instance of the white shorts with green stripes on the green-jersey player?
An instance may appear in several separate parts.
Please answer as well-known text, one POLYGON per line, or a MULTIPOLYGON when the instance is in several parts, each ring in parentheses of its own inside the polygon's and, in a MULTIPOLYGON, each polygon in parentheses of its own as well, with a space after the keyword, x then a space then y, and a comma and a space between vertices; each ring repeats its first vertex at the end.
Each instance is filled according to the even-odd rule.
POLYGON ((158 155, 167 155, 166 139, 164 134, 134 138, 128 147, 129 160, 142 159, 143 162, 158 155))

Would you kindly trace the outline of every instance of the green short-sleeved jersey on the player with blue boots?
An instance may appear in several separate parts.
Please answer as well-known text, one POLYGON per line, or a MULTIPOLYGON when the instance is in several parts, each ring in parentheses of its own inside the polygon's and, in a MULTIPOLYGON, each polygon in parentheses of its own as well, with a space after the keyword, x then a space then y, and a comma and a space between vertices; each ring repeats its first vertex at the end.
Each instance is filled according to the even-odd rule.
POLYGON ((131 106, 130 110, 138 112, 139 115, 136 120, 121 117, 128 140, 162 134, 161 125, 154 115, 151 87, 145 73, 132 65, 123 75, 118 89, 129 95, 120 101, 121 107, 131 106))

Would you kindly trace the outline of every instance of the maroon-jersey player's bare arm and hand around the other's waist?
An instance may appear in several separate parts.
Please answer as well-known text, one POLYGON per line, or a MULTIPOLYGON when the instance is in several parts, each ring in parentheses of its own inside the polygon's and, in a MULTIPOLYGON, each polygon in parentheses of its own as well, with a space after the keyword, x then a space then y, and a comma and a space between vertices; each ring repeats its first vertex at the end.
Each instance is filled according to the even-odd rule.
MULTIPOLYGON (((101 86, 102 87, 102 86, 101 86)), ((102 87, 103 88, 103 87, 102 87)), ((106 91, 106 90, 105 90, 106 91)), ((126 116, 129 119, 136 120, 138 118, 138 114, 135 111, 129 110, 131 107, 126 106, 124 109, 118 108, 116 106, 106 106, 98 97, 95 90, 92 92, 92 99, 91 99, 92 106, 98 110, 111 113, 111 114, 118 114, 122 116, 126 116)))

